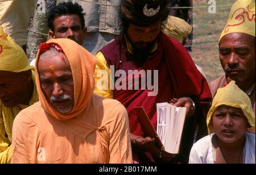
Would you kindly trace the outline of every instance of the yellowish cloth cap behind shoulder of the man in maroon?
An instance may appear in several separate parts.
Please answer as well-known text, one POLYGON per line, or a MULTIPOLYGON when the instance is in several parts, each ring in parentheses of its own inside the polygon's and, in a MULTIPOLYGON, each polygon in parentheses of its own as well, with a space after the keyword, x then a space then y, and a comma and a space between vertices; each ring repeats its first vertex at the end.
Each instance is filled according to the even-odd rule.
POLYGON ((189 35, 191 30, 192 27, 185 20, 171 15, 168 16, 166 24, 163 26, 163 32, 180 43, 189 35))

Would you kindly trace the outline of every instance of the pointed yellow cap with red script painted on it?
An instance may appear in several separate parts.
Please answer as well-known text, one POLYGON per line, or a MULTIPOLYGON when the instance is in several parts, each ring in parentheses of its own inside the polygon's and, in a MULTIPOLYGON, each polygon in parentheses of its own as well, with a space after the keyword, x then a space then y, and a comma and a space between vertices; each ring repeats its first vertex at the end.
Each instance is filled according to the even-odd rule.
POLYGON ((234 3, 220 40, 230 33, 244 33, 255 37, 255 0, 238 0, 234 3))

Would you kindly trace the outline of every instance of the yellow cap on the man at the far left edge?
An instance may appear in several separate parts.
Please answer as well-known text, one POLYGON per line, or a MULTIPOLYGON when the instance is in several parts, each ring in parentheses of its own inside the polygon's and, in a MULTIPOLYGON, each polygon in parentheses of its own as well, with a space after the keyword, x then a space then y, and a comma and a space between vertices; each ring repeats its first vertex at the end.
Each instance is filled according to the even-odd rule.
POLYGON ((0 26, 0 70, 22 72, 31 69, 27 56, 0 26))

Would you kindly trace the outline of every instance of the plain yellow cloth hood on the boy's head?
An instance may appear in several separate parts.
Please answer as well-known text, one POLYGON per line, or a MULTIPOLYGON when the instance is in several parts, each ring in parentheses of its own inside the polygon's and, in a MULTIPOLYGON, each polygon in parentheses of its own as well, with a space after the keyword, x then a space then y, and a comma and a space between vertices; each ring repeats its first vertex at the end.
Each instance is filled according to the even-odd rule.
POLYGON ((212 115, 217 107, 221 105, 241 108, 251 126, 251 130, 255 131, 255 114, 251 107, 250 98, 236 85, 236 82, 230 81, 226 87, 218 89, 217 94, 213 98, 212 107, 210 107, 207 115, 207 127, 209 134, 212 133, 213 129, 211 122, 212 115))

